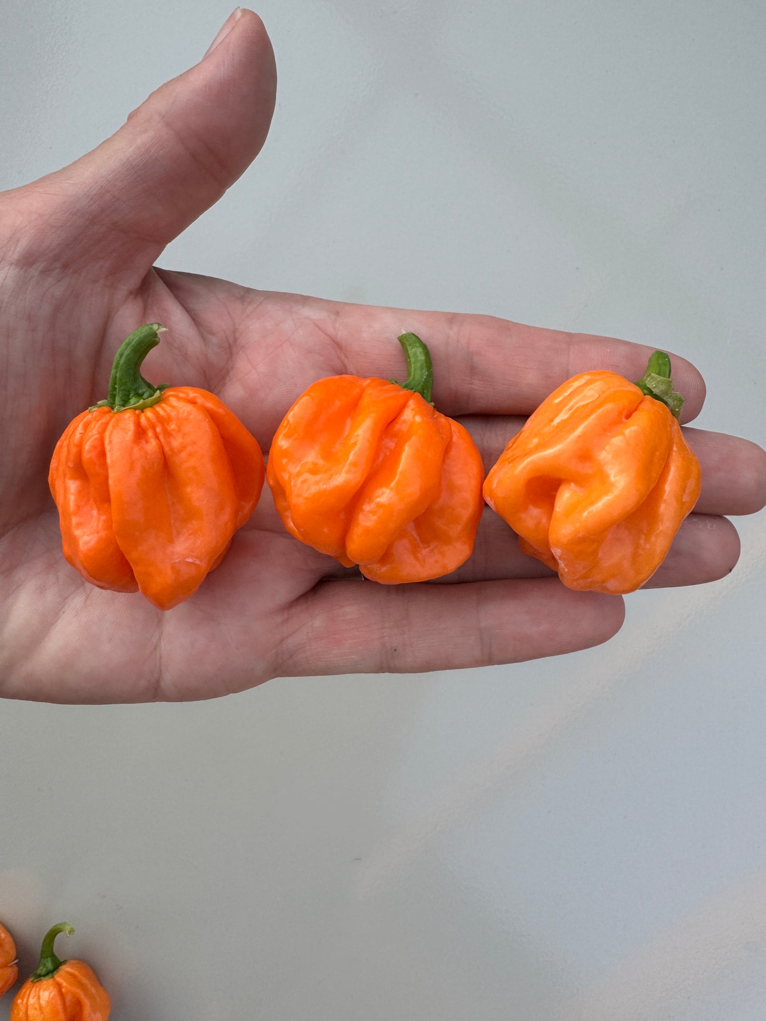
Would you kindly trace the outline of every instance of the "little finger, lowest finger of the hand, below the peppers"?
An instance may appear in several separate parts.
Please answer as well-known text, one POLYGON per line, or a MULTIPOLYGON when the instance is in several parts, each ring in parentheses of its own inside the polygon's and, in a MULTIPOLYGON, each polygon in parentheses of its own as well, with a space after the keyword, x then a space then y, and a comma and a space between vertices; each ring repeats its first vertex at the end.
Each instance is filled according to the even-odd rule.
POLYGON ((296 602, 285 674, 420 673, 519 663, 608 641, 619 596, 558 579, 468 585, 325 582, 296 602))

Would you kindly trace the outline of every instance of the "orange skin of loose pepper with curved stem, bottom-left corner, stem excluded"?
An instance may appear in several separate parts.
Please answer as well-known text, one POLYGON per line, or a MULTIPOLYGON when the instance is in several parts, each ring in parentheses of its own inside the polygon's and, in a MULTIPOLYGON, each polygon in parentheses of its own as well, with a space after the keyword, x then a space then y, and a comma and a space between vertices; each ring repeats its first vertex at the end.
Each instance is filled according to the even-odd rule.
POLYGON ((10 1021, 106 1021, 109 994, 83 961, 64 961, 50 977, 28 978, 10 1008, 10 1021))

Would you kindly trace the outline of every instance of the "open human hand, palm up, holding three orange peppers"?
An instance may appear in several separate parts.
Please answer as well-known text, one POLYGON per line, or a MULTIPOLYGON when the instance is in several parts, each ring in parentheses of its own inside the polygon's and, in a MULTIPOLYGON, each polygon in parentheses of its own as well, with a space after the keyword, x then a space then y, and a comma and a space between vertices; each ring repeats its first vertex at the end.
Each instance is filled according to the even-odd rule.
MULTIPOLYGON (((279 675, 424 671, 553 655, 607 640, 622 599, 566 589, 524 556, 489 509, 471 560, 440 583, 361 580, 284 530, 268 489, 221 567, 162 614, 105 592, 64 561, 47 486, 66 424, 106 392, 114 350, 141 323, 169 332, 152 382, 218 394, 268 452, 293 400, 324 376, 401 375, 396 337, 431 350, 434 401, 497 457, 524 416, 587 369, 637 379, 651 348, 486 317, 365 307, 273 294, 153 268, 220 198, 266 138, 276 74, 250 11, 199 64, 73 165, 0 194, 0 694, 54 701, 201 698, 279 675)), ((222 30, 223 33, 224 30, 222 30)), ((673 378, 692 419, 704 384, 673 378)), ((687 430, 703 492, 649 583, 725 575, 736 532, 720 515, 766 502, 766 454, 687 430)))

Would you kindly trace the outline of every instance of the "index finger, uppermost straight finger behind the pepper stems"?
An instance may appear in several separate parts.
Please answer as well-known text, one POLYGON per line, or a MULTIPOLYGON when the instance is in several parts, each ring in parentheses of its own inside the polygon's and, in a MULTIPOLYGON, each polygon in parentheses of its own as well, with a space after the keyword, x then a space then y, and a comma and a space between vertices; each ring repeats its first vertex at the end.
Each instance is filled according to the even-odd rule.
MULTIPOLYGON (((492 315, 333 305, 332 328, 346 372, 401 375, 391 340, 412 331, 434 363, 434 403, 444 415, 531 415, 558 386, 578 373, 608 369, 628 380, 647 370, 655 347, 615 337, 524 326, 492 315)), ((664 350, 664 348, 663 348, 664 350)), ((675 389, 685 398, 682 422, 700 414, 705 382, 695 367, 668 351, 675 389)))

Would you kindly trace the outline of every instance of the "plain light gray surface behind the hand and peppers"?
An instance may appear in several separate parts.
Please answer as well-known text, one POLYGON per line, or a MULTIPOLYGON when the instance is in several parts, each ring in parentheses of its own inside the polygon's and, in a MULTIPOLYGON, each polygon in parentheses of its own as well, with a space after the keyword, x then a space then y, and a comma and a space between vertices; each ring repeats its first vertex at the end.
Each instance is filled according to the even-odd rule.
MULTIPOLYGON (((766 443, 761 0, 264 0, 256 164, 162 265, 692 359, 766 443)), ((212 0, 5 0, 0 186, 204 52, 212 0)), ((763 1021, 766 516, 608 645, 0 707, 0 917, 115 1021, 763 1021)), ((0 1005, 7 1018, 10 996, 0 1005)))

